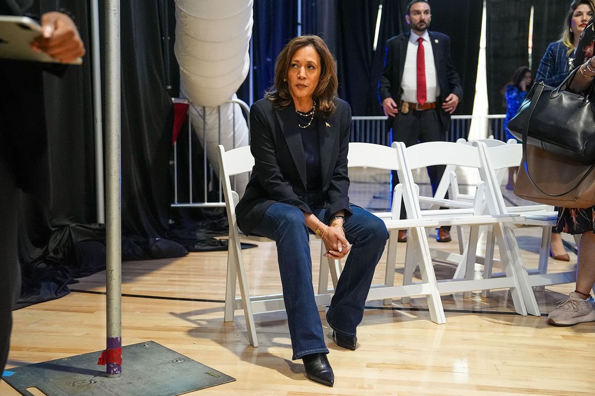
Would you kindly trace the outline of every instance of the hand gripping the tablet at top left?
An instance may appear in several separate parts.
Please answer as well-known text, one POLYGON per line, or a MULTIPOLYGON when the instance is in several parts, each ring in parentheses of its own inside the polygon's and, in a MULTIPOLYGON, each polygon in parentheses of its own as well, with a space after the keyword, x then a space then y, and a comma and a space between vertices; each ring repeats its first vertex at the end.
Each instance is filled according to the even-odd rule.
POLYGON ((61 63, 72 62, 84 55, 83 41, 73 20, 62 12, 46 12, 41 18, 42 35, 31 43, 61 63))

